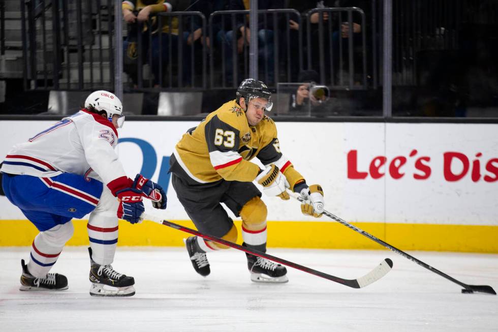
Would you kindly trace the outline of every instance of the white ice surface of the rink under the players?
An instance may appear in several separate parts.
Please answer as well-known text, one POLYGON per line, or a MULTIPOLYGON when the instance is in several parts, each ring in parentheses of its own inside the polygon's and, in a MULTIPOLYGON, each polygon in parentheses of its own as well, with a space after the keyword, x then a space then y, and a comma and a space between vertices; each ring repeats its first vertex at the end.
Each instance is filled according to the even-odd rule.
MULTIPOLYGON (((135 277, 135 296, 90 297, 84 247, 67 247, 52 271, 69 289, 21 292, 29 248, 1 248, 0 331, 497 331, 498 296, 458 285, 387 250, 270 249, 268 253, 341 278, 363 276, 382 259, 394 267, 363 289, 289 268, 289 283, 250 281, 245 255, 208 254, 202 278, 181 248, 118 247, 113 267, 135 277)), ((467 284, 498 289, 498 255, 410 252, 467 284)))

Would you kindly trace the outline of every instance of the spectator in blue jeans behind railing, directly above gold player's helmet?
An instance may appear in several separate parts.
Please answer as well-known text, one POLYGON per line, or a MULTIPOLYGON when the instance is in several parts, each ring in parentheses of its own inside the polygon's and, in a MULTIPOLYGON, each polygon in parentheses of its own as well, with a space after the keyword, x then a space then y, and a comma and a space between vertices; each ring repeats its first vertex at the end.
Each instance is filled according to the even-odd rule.
MULTIPOLYGON (((250 0, 230 0, 230 10, 248 10, 250 9, 250 0)), ((282 9, 284 7, 283 0, 273 0, 273 1, 263 1, 258 0, 258 9, 266 10, 266 9, 282 9)), ((230 31, 220 31, 217 34, 217 39, 220 43, 225 44, 225 70, 226 79, 229 85, 236 86, 238 82, 233 81, 233 54, 232 50, 234 47, 237 48, 237 53, 241 54, 244 52, 244 46, 248 46, 251 40, 251 31, 249 29, 249 18, 248 16, 244 19, 244 15, 236 15, 236 26, 235 29, 230 31), (236 35, 235 42, 233 45, 233 34, 236 35)), ((267 72, 263 73, 262 76, 266 76, 268 78, 265 80, 267 83, 274 82, 274 59, 273 59, 273 29, 275 28, 271 23, 271 20, 267 20, 270 22, 267 26, 265 26, 264 14, 259 15, 258 17, 258 61, 259 68, 264 70, 267 68, 267 72)), ((239 69, 238 63, 236 64, 237 69, 239 69)), ((242 73, 238 72, 237 79, 242 77, 242 73)))

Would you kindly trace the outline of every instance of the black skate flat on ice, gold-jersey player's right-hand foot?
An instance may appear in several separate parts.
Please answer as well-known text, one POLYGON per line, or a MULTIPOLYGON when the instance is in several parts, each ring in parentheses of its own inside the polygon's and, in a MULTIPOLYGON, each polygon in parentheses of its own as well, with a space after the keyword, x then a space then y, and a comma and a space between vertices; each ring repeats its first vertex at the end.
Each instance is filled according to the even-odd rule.
POLYGON ((247 268, 251 271, 251 280, 264 283, 285 283, 288 282, 287 269, 281 264, 277 264, 266 258, 261 258, 245 253, 247 256, 247 268))

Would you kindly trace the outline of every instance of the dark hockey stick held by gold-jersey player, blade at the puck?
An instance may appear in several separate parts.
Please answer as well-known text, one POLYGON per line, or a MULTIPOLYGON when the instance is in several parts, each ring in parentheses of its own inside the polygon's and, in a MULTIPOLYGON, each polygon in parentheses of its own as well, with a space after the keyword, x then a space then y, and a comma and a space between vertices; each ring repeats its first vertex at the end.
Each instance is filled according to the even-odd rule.
MULTIPOLYGON (((301 203, 306 202, 305 199, 303 199, 301 196, 299 196, 296 193, 293 193, 293 192, 289 191, 289 195, 292 196, 293 198, 297 199, 301 203)), ((408 258, 412 262, 415 262, 415 263, 419 264, 420 266, 425 267, 429 271, 432 271, 433 273, 436 273, 436 274, 440 275, 441 277, 446 278, 446 279, 454 282, 455 284, 458 284, 458 285, 464 287, 462 289, 462 293, 481 292, 481 293, 487 293, 487 294, 494 294, 494 295, 496 295, 496 292, 494 291, 494 289, 491 286, 487 286, 487 285, 467 285, 467 284, 464 284, 464 283, 456 280, 455 278, 452 278, 452 277, 448 276, 447 274, 443 273, 442 271, 438 270, 437 268, 434 268, 434 267, 430 266, 429 264, 426 264, 426 263, 422 262, 421 260, 413 257, 412 255, 409 255, 406 252, 404 252, 402 250, 399 250, 396 247, 393 247, 393 246, 391 246, 388 243, 385 243, 383 240, 375 237, 374 235, 371 235, 371 234, 365 232, 364 230, 362 230, 362 229, 360 229, 360 228, 358 228, 358 227, 356 227, 354 225, 351 225, 347 221, 345 221, 345 220, 343 220, 343 219, 341 219, 341 218, 339 218, 337 216, 334 216, 333 214, 331 214, 330 212, 328 212, 326 210, 323 210, 323 214, 325 216, 327 216, 327 217, 335 220, 336 222, 338 222, 340 224, 343 224, 346 227, 351 228, 355 232, 358 232, 358 233, 360 233, 360 234, 368 237, 369 239, 374 240, 378 244, 380 244, 380 245, 386 247, 387 249, 389 249, 389 250, 391 250, 391 251, 393 251, 393 252, 395 252, 395 253, 403 256, 404 258, 408 258)))

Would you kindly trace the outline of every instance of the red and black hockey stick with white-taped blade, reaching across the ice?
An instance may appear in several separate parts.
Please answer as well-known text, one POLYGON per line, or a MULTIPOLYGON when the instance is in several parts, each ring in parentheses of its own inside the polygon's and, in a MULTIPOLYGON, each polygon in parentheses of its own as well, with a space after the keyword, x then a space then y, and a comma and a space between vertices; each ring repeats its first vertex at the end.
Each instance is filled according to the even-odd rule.
POLYGON ((312 275, 315 275, 315 276, 318 276, 318 277, 322 277, 324 279, 327 279, 327 280, 330 280, 330 281, 333 281, 333 282, 336 282, 336 283, 339 283, 339 284, 343 284, 343 285, 346 285, 346 286, 352 287, 352 288, 363 288, 365 286, 368 286, 371 283, 376 282, 377 280, 379 280, 382 277, 384 277, 391 270, 391 268, 392 268, 392 261, 389 258, 386 258, 376 268, 374 268, 373 270, 371 270, 368 274, 364 275, 363 277, 360 277, 358 279, 352 279, 352 280, 343 279, 343 278, 335 277, 335 276, 328 275, 326 273, 317 271, 317 270, 315 270, 313 268, 309 268, 309 267, 306 267, 306 266, 303 266, 303 265, 299 265, 297 263, 290 262, 290 261, 282 259, 282 258, 278 258, 278 257, 272 256, 272 255, 268 255, 268 254, 266 254, 264 252, 261 252, 261 251, 258 251, 256 249, 251 249, 251 248, 248 248, 248 247, 242 247, 242 246, 237 245, 235 243, 232 243, 232 242, 229 242, 227 240, 224 240, 223 238, 220 238, 220 237, 203 234, 203 233, 198 232, 196 230, 193 230, 191 228, 183 227, 181 225, 178 225, 178 224, 172 223, 170 221, 164 220, 164 219, 162 219, 160 217, 151 216, 149 214, 143 213, 142 216, 140 217, 140 219, 141 220, 153 221, 155 223, 158 223, 158 224, 161 224, 161 225, 165 225, 165 226, 168 226, 168 227, 172 227, 172 228, 181 230, 181 231, 186 232, 186 233, 197 235, 197 236, 203 237, 203 238, 205 238, 207 240, 210 240, 212 242, 216 242, 216 243, 225 245, 227 247, 231 247, 231 248, 234 248, 234 249, 237 249, 237 250, 240 250, 240 251, 244 251, 246 253, 249 253, 249 254, 252 254, 252 255, 255 255, 255 256, 258 256, 258 257, 261 257, 261 258, 266 258, 266 259, 269 259, 269 260, 274 261, 276 263, 280 263, 280 264, 283 264, 283 265, 294 267, 294 268, 296 268, 298 270, 301 270, 301 271, 304 271, 306 273, 309 273, 309 274, 312 274, 312 275))

